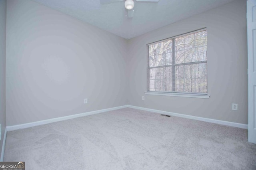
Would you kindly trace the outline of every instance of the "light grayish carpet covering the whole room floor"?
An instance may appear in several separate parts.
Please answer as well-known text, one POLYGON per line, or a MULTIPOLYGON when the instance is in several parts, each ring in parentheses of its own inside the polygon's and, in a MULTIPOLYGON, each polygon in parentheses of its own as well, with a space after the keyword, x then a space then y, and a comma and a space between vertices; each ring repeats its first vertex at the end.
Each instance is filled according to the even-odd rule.
POLYGON ((255 170, 247 135, 126 108, 10 131, 4 161, 25 161, 26 170, 255 170))

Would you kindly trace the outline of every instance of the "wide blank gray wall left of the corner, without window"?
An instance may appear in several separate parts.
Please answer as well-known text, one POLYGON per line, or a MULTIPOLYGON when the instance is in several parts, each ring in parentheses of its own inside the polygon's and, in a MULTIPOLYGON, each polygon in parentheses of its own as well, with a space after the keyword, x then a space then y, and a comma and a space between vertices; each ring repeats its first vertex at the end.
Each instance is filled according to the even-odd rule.
POLYGON ((126 55, 123 38, 30 0, 8 0, 6 124, 126 105, 126 55))

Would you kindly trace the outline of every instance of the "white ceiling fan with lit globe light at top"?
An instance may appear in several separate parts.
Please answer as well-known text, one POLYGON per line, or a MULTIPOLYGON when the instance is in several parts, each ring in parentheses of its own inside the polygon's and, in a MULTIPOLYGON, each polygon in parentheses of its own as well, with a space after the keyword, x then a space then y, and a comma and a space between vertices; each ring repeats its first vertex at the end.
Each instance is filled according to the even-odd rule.
MULTIPOLYGON (((101 4, 110 4, 114 2, 120 2, 120 1, 125 1, 124 2, 124 7, 127 9, 127 15, 128 18, 133 17, 133 8, 134 8, 134 0, 100 0, 101 4)), ((158 2, 159 0, 136 0, 137 2, 158 2)))

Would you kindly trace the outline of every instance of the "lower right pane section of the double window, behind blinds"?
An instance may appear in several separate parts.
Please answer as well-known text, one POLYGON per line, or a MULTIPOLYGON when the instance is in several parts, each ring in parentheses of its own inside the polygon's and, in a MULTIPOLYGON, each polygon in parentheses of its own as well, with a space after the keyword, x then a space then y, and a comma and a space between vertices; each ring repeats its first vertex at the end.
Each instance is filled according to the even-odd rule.
POLYGON ((175 67, 175 89, 178 92, 207 93, 207 64, 175 67))

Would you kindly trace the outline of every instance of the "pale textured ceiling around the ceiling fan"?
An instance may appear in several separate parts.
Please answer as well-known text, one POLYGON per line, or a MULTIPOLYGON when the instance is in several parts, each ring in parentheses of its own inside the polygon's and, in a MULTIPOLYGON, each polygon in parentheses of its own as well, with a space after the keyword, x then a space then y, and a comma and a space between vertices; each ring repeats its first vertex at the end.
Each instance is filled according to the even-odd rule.
POLYGON ((159 0, 136 2, 134 17, 127 18, 123 2, 100 0, 33 0, 103 30, 130 39, 234 0, 159 0))

